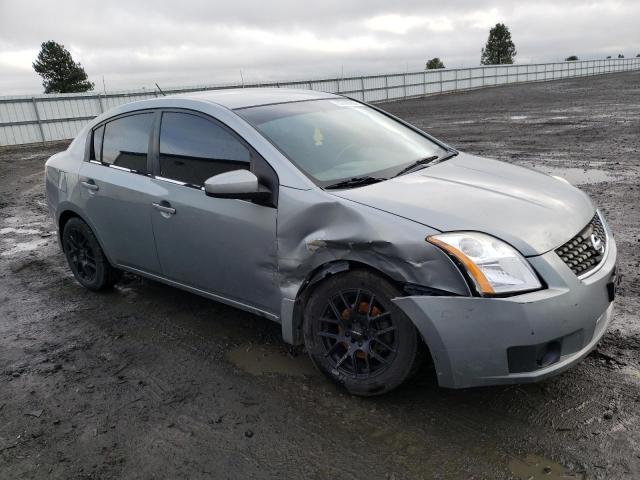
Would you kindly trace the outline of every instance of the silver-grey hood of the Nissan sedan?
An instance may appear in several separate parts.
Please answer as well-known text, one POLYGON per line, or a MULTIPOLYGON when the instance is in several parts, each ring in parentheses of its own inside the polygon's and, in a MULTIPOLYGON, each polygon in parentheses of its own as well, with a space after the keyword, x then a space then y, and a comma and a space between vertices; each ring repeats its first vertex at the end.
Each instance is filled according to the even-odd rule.
POLYGON ((540 255, 593 218, 589 197, 535 170, 460 153, 384 182, 333 194, 440 231, 474 230, 540 255))

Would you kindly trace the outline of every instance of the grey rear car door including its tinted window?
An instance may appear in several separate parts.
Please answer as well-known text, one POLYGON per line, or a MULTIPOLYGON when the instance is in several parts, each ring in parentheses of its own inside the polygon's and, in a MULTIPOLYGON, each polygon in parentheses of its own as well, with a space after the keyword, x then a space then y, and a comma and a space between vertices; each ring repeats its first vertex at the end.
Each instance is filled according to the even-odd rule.
POLYGON ((80 196, 113 263, 160 274, 151 224, 155 186, 148 158, 155 115, 136 112, 93 130, 89 161, 80 167, 80 196))

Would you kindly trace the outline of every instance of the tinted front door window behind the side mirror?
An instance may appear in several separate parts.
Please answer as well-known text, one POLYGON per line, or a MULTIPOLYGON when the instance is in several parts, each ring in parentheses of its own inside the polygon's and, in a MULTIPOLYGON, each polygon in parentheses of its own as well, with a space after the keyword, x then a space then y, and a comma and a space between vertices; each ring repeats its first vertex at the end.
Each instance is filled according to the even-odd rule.
POLYGON ((198 115, 165 112, 160 124, 160 176, 193 186, 249 169, 249 149, 223 126, 198 115))

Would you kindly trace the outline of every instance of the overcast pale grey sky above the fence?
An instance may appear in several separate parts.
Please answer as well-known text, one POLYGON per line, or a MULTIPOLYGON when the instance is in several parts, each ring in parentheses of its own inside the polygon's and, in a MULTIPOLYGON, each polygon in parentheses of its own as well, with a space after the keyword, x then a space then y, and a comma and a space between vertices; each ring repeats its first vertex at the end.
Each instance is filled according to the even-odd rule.
POLYGON ((0 95, 42 92, 64 44, 102 90, 477 65, 506 23, 517 63, 640 53, 640 0, 0 0, 0 95))

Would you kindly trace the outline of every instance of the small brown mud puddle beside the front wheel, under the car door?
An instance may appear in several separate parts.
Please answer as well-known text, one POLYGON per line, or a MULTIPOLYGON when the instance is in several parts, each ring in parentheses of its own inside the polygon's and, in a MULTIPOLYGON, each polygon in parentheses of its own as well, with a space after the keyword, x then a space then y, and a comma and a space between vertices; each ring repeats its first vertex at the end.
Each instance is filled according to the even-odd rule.
POLYGON ((305 377, 318 375, 305 354, 291 356, 274 345, 240 345, 226 354, 228 361, 254 375, 305 377))

